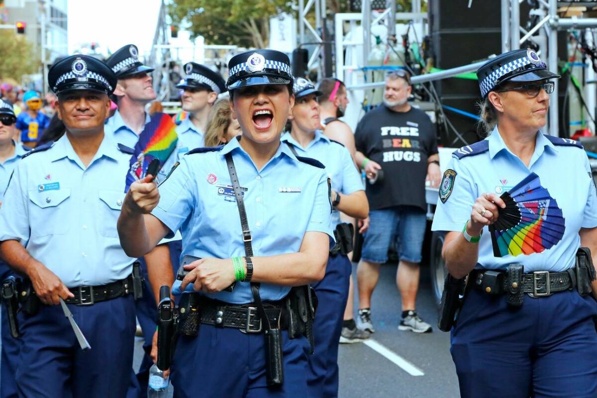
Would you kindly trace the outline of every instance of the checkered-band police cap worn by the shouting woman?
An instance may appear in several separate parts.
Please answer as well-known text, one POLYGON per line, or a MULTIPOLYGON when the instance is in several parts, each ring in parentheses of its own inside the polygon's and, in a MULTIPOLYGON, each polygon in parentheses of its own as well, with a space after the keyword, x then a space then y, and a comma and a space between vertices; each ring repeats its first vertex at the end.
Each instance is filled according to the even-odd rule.
POLYGON ((257 85, 293 83, 288 55, 276 50, 253 50, 237 54, 228 63, 228 90, 257 85))

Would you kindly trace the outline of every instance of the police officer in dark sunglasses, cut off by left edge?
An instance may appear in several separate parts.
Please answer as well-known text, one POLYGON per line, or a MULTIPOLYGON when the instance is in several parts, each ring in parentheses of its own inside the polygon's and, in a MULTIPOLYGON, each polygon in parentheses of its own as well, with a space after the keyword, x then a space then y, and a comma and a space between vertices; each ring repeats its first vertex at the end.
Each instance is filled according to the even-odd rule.
MULTIPOLYGON (((13 106, 0 100, 0 211, 2 211, 2 202, 4 201, 4 191, 8 186, 11 174, 17 162, 29 152, 29 148, 17 143, 14 140, 14 125, 16 116, 13 112, 13 106)), ((13 274, 10 267, 4 261, 0 260, 0 282, 13 274)), ((2 359, 0 359, 0 397, 16 397, 17 384, 14 375, 17 369, 19 358, 19 340, 11 337, 8 328, 7 311, 2 311, 2 359)))

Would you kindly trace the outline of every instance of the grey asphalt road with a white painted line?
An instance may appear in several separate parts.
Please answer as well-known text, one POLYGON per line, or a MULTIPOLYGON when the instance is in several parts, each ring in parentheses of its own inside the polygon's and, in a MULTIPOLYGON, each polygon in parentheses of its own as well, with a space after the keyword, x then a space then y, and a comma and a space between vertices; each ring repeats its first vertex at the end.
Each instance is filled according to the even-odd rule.
MULTIPOLYGON (((421 269, 417 309, 420 316, 434 326, 430 334, 398 331, 401 307, 395 273, 395 265, 381 267, 380 282, 372 301, 376 333, 371 341, 340 346, 339 396, 458 397, 456 371, 449 351, 450 335, 435 327, 437 308, 429 284, 429 267, 421 269)), ((135 344, 134 367, 138 369, 142 338, 137 337, 135 344)))

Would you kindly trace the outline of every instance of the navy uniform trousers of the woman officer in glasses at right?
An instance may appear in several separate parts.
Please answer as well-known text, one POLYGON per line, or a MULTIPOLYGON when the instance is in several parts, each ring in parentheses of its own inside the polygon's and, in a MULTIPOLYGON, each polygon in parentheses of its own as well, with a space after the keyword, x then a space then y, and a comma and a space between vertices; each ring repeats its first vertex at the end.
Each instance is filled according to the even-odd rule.
POLYGON ((505 295, 472 289, 452 329, 463 398, 597 397, 597 302, 576 291, 505 295))

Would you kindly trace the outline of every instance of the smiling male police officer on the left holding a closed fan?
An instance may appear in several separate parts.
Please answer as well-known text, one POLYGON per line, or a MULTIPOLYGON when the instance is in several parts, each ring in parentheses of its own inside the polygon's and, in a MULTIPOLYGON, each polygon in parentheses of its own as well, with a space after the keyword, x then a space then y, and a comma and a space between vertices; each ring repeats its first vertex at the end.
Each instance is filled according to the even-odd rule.
POLYGON ((134 258, 116 231, 132 151, 103 130, 116 76, 73 55, 50 68, 48 83, 66 134, 23 156, 0 211, 2 258, 34 289, 19 313, 19 396, 122 397, 133 366, 134 258), (60 299, 92 350, 79 348, 60 299))

